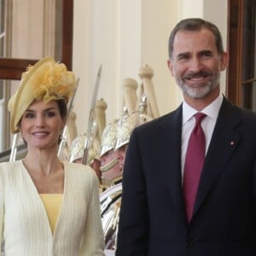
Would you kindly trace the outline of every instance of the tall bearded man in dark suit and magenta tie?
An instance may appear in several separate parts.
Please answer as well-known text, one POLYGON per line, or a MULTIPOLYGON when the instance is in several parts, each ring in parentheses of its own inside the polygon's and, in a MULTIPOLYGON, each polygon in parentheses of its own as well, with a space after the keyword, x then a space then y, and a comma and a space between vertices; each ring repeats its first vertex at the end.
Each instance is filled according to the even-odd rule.
POLYGON ((256 115, 220 94, 227 62, 212 23, 187 19, 173 29, 168 67, 183 103, 131 134, 117 256, 256 255, 256 115), (198 112, 206 114, 196 126, 205 136, 205 159, 195 163, 201 176, 192 183, 187 174, 194 166, 185 162, 198 112), (197 185, 189 190, 193 204, 189 185, 197 185))

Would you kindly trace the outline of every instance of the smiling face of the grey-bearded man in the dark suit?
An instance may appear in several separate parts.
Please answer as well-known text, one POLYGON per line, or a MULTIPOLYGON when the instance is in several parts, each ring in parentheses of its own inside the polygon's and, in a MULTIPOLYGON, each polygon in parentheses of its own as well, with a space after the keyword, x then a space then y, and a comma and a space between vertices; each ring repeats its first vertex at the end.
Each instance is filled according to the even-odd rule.
POLYGON ((218 53, 209 30, 180 31, 174 38, 168 67, 184 96, 203 98, 218 86, 227 59, 227 53, 218 53))

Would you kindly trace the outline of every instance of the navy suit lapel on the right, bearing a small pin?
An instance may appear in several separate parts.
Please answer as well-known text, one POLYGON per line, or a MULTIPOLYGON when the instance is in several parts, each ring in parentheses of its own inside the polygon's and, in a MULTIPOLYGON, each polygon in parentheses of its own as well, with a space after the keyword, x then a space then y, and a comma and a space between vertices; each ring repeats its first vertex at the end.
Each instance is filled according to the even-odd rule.
POLYGON ((224 98, 202 170, 194 215, 201 207, 202 202, 206 199, 214 183, 217 182, 219 175, 224 172, 226 162, 230 159, 238 145, 239 135, 236 133, 235 127, 240 122, 241 120, 236 108, 224 98))

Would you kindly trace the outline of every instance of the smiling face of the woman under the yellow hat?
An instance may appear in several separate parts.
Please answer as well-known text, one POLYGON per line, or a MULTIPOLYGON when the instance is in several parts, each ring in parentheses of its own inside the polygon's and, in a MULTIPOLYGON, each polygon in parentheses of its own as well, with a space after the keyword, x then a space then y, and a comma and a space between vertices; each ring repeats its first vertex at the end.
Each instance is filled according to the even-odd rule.
POLYGON ((57 148, 64 125, 56 101, 34 101, 20 119, 20 132, 28 149, 57 148))

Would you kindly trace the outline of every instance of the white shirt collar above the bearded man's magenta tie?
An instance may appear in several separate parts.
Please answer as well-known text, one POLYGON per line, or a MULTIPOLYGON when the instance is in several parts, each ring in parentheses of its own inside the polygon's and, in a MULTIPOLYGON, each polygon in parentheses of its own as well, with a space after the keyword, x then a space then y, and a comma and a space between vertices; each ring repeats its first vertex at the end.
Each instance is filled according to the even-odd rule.
MULTIPOLYGON (((218 97, 207 106, 207 108, 204 108, 201 110, 201 113, 207 114, 208 117, 211 119, 217 119, 218 118, 218 111, 221 107, 221 104, 223 102, 223 95, 219 94, 218 97)), ((198 111, 195 108, 191 108, 188 103, 183 102, 183 124, 185 124, 195 113, 198 111)))

